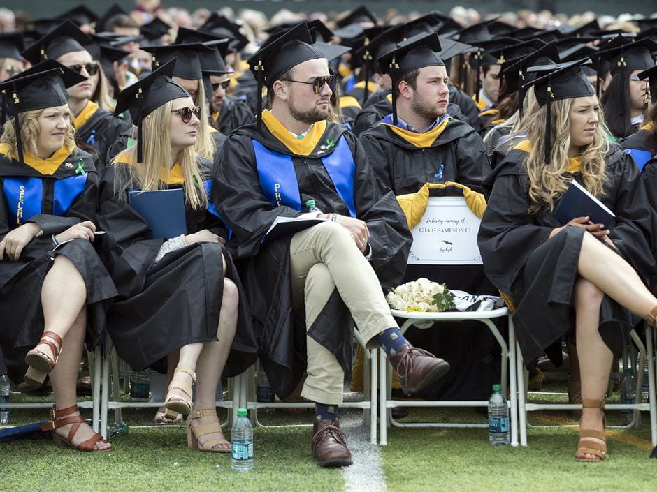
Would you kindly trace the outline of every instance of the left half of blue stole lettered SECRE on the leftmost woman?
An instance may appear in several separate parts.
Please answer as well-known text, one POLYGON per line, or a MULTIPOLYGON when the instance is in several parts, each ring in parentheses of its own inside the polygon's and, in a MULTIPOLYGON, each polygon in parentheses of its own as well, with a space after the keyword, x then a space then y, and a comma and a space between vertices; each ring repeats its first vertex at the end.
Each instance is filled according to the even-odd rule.
POLYGON ((9 225, 15 228, 41 214, 43 181, 38 177, 6 176, 3 191, 9 211, 9 225))

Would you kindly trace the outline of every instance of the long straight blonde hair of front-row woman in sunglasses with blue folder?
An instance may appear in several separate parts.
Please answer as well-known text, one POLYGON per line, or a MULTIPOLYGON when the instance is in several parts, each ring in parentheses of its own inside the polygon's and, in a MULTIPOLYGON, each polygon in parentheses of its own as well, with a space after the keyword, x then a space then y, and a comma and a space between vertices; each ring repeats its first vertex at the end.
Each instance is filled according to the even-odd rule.
MULTIPOLYGON (((169 121, 171 120, 171 107, 173 100, 164 103, 151 112, 143 120, 143 149, 142 161, 136 163, 137 142, 133 147, 127 149, 112 159, 112 164, 128 164, 124 166, 125 173, 116 176, 115 189, 119 190, 119 196, 125 197, 125 191, 136 184, 142 191, 162 190, 166 184, 162 181, 162 170, 169 170, 163 163, 171 162, 171 137, 169 135, 169 121)), ((201 126, 203 122, 199 124, 201 126)), ((185 147, 178 154, 177 161, 182 166, 182 176, 185 179, 183 189, 185 190, 185 202, 193 209, 201 209, 208 204, 208 196, 201 183, 201 171, 196 162, 196 151, 194 146, 185 147)), ((168 177, 164 177, 166 179, 168 177)))

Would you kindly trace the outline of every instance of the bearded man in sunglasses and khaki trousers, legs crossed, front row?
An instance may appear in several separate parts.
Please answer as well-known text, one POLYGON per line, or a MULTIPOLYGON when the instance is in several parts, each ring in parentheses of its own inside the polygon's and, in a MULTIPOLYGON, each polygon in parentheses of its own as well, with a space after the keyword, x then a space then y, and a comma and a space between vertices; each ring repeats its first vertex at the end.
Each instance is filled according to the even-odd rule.
POLYGON ((308 374, 301 396, 316 405, 312 457, 344 466, 352 459, 338 405, 352 368, 354 322, 382 346, 409 393, 449 364, 407 343, 390 314, 382 288, 403 277, 412 238, 356 137, 326 120, 335 75, 311 43, 298 24, 250 59, 271 110, 226 141, 213 195, 233 231, 234 258, 244 263, 261 366, 280 398, 308 374), (266 237, 277 219, 297 217, 326 221, 266 237))

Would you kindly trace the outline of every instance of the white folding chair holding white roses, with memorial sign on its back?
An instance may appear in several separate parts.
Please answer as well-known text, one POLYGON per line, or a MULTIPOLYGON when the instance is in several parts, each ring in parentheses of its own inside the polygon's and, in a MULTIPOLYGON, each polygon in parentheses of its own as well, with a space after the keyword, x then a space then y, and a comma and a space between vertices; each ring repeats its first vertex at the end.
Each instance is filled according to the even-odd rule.
MULTIPOLYGON (((450 183, 445 184, 449 186, 450 183)), ((431 186, 431 188, 439 187, 436 185, 431 186)), ((479 256, 479 250, 477 248, 477 231, 479 230, 479 223, 481 219, 478 218, 475 214, 470 211, 468 204, 465 201, 464 197, 457 196, 447 196, 447 197, 429 197, 428 206, 425 215, 423 216, 423 221, 426 220, 428 215, 437 214, 432 220, 439 221, 438 216, 447 214, 447 216, 452 216, 452 214, 458 214, 457 216, 465 218, 468 223, 469 231, 458 234, 454 241, 449 241, 454 246, 454 248, 461 248, 463 251, 462 255, 459 258, 450 260, 449 255, 436 255, 431 256, 432 253, 427 253, 431 248, 435 248, 435 243, 438 243, 438 239, 435 237, 435 234, 432 232, 423 232, 421 231, 421 225, 417 225, 412 229, 413 234, 413 246, 410 253, 409 264, 481 264, 481 257, 479 256), (445 209, 441 209, 441 208, 445 209), (458 241, 458 243, 456 243, 458 241), (469 255, 470 260, 463 260, 463 258, 469 255), (438 258, 442 256, 443 258, 438 258), (477 258, 478 257, 478 258, 477 258)), ((426 229, 426 228, 425 228, 426 229)), ((465 229, 465 228, 464 228, 465 229)), ((453 249, 454 249, 453 248, 453 249)), ((507 389, 507 375, 509 379, 509 401, 508 405, 510 408, 510 432, 511 432, 511 444, 514 446, 518 445, 518 427, 517 427, 517 386, 516 386, 516 375, 515 375, 515 345, 513 341, 515 340, 514 336, 514 327, 511 314, 506 307, 496 308, 490 311, 473 311, 473 312, 442 312, 442 313, 426 313, 426 312, 410 312, 399 311, 396 309, 391 310, 392 314, 397 318, 404 318, 406 321, 400 327, 400 331, 404 333, 409 327, 415 326, 420 329, 426 329, 433 326, 434 322, 454 322, 454 321, 479 321, 488 329, 491 330, 493 336, 495 336, 496 341, 500 345, 502 351, 502 364, 500 367, 500 380, 503 385, 503 392, 506 392, 507 389), (509 340, 510 343, 505 341, 502 334, 493 323, 493 319, 496 318, 507 318, 508 327, 509 327, 509 340)), ((380 444, 387 445, 387 427, 396 426, 396 427, 447 427, 447 428, 487 428, 487 424, 470 424, 470 423, 442 423, 442 422, 432 422, 432 423, 402 423, 396 421, 392 417, 391 409, 394 407, 482 407, 485 408, 488 406, 488 401, 396 401, 392 399, 392 367, 390 364, 387 364, 387 359, 384 357, 384 353, 381 352, 380 355, 380 371, 386 375, 385 385, 380 387, 380 444)))

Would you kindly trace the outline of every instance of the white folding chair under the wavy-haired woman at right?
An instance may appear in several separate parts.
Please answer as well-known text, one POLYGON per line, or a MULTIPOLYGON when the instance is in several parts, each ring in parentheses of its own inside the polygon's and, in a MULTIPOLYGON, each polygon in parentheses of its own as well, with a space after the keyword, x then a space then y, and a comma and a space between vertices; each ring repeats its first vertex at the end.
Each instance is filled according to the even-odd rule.
MULTIPOLYGON (((646 324, 647 325, 647 324, 646 324)), ((609 403, 605 405, 605 410, 634 410, 634 417, 632 422, 626 426, 607 426, 607 428, 631 428, 639 423, 639 411, 647 411, 650 415, 650 433, 653 446, 657 445, 657 405, 655 399, 655 351, 654 351, 654 333, 655 329, 647 325, 646 343, 641 341, 636 331, 630 332, 630 338, 639 351, 639 361, 637 371, 637 388, 635 394, 636 403, 609 403), (642 387, 644 378, 644 364, 648 365, 648 401, 642 403, 642 387)), ((577 410, 581 409, 581 404, 572 403, 528 403, 527 402, 527 385, 528 385, 528 371, 524 366, 520 346, 517 345, 516 349, 516 368, 518 371, 518 410, 519 410, 519 425, 520 425, 520 444, 521 446, 527 445, 527 428, 528 427, 558 427, 552 426, 535 426, 528 422, 527 412, 535 412, 537 410, 577 410)), ((577 425, 572 425, 572 427, 577 425)))

